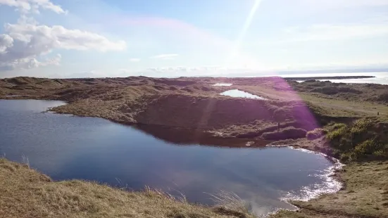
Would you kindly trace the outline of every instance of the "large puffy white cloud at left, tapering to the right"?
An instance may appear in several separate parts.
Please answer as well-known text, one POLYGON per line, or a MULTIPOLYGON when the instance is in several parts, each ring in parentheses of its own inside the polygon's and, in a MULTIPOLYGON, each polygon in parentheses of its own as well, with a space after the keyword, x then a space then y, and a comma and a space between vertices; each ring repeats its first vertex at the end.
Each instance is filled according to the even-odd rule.
POLYGON ((16 24, 6 24, 5 31, 6 34, 0 34, 0 68, 3 70, 47 65, 37 58, 51 53, 53 49, 104 52, 121 51, 126 47, 125 41, 111 41, 96 33, 69 30, 60 25, 49 27, 27 23, 25 19, 16 24))

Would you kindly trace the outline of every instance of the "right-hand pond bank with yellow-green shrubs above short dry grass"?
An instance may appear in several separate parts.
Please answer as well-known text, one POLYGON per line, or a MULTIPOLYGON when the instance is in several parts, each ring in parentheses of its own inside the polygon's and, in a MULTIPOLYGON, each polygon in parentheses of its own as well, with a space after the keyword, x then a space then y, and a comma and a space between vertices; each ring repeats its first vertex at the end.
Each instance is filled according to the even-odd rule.
POLYGON ((298 212, 272 217, 388 217, 388 124, 363 118, 309 133, 315 139, 311 145, 328 148, 325 153, 346 163, 336 174, 344 188, 308 202, 294 201, 298 212))

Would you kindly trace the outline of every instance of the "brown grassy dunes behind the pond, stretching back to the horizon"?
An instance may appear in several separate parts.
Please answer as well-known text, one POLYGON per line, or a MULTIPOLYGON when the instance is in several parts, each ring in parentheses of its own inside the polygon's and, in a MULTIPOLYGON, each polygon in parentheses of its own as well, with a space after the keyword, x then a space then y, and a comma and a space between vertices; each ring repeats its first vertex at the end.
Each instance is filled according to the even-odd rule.
MULTIPOLYGON (((299 122, 296 117, 306 101, 315 114, 328 117, 363 117, 377 115, 388 120, 387 105, 377 104, 374 90, 386 86, 342 85, 310 82, 286 82, 280 77, 257 78, 187 78, 154 79, 148 77, 44 79, 15 77, 0 79, 0 98, 35 98, 67 101, 67 105, 53 108, 56 113, 70 113, 88 117, 103 117, 125 124, 162 124, 173 127, 211 129, 223 136, 261 136, 281 122, 299 122), (232 86, 211 86, 215 83, 232 86), (311 92, 315 86, 330 86, 336 96, 311 92), (240 89, 264 96, 270 101, 219 96, 223 91, 240 89), (296 93, 297 89, 300 93, 296 93), (341 94, 360 89, 365 102, 344 101, 341 94), (10 95, 14 95, 11 97, 10 95), (302 101, 303 100, 303 101, 302 101), (168 115, 168 116, 161 116, 168 115), (232 127, 230 129, 230 127, 232 127), (260 133, 260 134, 256 134, 260 133)), ((330 88, 329 87, 329 88, 330 88)), ((330 88, 331 90, 331 88, 330 88)), ((284 128, 284 127, 283 127, 284 128)))

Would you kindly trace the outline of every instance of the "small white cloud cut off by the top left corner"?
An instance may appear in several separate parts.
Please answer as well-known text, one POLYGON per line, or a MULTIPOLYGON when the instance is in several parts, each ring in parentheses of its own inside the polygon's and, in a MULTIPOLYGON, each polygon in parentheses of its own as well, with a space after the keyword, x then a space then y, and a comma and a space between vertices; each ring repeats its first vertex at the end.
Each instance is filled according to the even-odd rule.
POLYGON ((53 4, 49 0, 0 0, 0 6, 18 8, 21 13, 39 13, 39 8, 54 11, 55 13, 68 13, 61 6, 53 4))

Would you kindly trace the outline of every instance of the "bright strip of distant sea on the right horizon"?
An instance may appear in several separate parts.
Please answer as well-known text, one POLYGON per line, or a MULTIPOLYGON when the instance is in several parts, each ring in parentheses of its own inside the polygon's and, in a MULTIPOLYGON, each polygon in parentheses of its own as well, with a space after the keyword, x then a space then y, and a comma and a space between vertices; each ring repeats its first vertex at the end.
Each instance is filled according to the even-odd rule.
MULTIPOLYGON (((388 85, 388 72, 338 72, 338 73, 311 73, 278 75, 280 77, 338 77, 338 76, 374 76, 366 79, 320 79, 321 81, 344 82, 344 83, 374 83, 388 85)), ((301 81, 299 81, 301 82, 301 81)))

